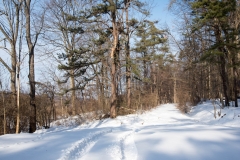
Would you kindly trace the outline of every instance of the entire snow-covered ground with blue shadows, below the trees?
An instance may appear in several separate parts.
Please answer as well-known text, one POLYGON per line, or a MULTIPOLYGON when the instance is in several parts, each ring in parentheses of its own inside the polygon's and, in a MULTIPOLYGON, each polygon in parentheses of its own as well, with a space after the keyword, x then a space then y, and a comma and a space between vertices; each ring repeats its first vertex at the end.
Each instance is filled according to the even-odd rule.
POLYGON ((187 115, 166 104, 141 115, 3 135, 0 160, 239 160, 240 107, 221 116, 214 118, 210 101, 187 115))

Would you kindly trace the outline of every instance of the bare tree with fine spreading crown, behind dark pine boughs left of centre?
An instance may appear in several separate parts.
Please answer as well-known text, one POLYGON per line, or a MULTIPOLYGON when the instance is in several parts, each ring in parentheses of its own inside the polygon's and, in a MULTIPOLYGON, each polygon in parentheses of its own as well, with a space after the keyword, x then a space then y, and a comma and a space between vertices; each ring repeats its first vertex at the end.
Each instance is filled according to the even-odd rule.
MULTIPOLYGON (((81 47, 82 33, 81 22, 77 19, 79 11, 86 7, 87 1, 58 1, 51 0, 46 3, 48 9, 46 30, 49 35, 45 35, 45 38, 50 44, 60 52, 64 52, 66 55, 67 63, 72 63, 74 59, 74 52, 81 47)), ((56 53, 56 52, 53 52, 56 53)), ((65 58, 64 58, 65 59, 65 58)), ((62 62, 58 60, 58 63, 62 65, 62 62)), ((65 63, 65 61, 64 61, 65 63)), ((75 77, 77 69, 68 69, 66 72, 70 79, 70 89, 66 89, 67 92, 71 92, 71 106, 72 114, 76 115, 76 83, 77 77, 75 77)), ((66 76, 67 77, 67 76, 66 76)), ((68 79, 68 77, 67 77, 68 79)), ((67 80, 66 80, 67 81, 67 80)), ((64 81, 64 82, 66 82, 64 81)))

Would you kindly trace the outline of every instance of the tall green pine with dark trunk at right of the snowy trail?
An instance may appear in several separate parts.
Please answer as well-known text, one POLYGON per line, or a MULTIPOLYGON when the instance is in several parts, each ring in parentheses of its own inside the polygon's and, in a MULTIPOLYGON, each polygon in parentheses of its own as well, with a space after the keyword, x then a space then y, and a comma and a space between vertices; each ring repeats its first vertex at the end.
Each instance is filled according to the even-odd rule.
MULTIPOLYGON (((214 41, 208 48, 205 58, 216 57, 219 72, 222 79, 223 93, 225 96, 225 105, 229 106, 230 101, 230 85, 228 76, 228 66, 230 55, 236 44, 230 42, 235 39, 236 31, 229 24, 229 15, 236 10, 235 0, 201 0, 189 2, 192 8, 192 33, 201 31, 203 28, 212 35, 214 41)), ((212 59, 212 58, 209 58, 212 59)), ((237 87, 237 86, 235 86, 237 87)), ((235 97, 236 100, 236 97, 235 97)))

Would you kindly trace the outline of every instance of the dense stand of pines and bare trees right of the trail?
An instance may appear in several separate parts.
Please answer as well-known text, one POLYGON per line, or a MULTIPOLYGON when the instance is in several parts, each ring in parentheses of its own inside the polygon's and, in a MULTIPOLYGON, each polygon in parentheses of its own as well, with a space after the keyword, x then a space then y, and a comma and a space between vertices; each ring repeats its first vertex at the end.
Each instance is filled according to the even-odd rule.
POLYGON ((223 107, 238 107, 239 1, 173 0, 170 8, 181 24, 178 63, 188 99, 221 98, 223 107))

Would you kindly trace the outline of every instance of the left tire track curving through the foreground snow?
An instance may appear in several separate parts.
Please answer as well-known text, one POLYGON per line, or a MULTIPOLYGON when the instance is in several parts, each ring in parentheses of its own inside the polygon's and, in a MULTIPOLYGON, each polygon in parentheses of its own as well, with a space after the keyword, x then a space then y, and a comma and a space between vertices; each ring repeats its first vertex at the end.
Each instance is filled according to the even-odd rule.
POLYGON ((90 133, 88 137, 75 142, 70 148, 63 150, 64 153, 58 160, 80 159, 89 152, 101 136, 110 132, 112 130, 90 133))

